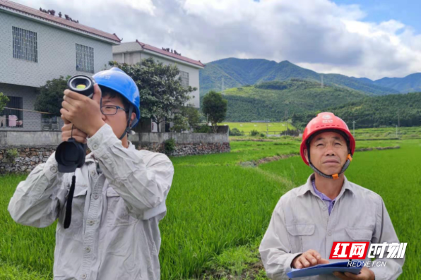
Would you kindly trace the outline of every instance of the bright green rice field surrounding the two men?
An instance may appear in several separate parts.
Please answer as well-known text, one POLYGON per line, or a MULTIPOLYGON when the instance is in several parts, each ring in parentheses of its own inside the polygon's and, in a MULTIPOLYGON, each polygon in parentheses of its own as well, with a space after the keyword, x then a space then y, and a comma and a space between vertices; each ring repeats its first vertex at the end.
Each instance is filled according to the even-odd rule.
MULTIPOLYGON (((357 149, 396 145, 401 149, 357 152, 347 171, 351 181, 384 197, 400 240, 408 242, 401 279, 416 279, 421 274, 417 255, 421 251, 417 241, 421 233, 421 206, 417 202, 421 198, 421 179, 417 175, 421 174, 417 164, 420 143, 357 141, 357 149)), ((239 163, 276 154, 297 154, 299 146, 300 140, 293 138, 233 141, 230 153, 172 158, 174 181, 167 198, 167 217, 160 223, 162 279, 213 279, 205 274, 224 269, 242 279, 263 279, 264 273, 259 271, 258 276, 246 276, 246 264, 258 257, 256 246, 279 197, 302 184, 311 169, 300 157, 257 168, 239 163)), ((20 226, 7 212, 10 197, 24 178, 0 178, 0 279, 51 279, 55 223, 46 229, 20 226), (1 277, 4 275, 8 278, 1 277)))

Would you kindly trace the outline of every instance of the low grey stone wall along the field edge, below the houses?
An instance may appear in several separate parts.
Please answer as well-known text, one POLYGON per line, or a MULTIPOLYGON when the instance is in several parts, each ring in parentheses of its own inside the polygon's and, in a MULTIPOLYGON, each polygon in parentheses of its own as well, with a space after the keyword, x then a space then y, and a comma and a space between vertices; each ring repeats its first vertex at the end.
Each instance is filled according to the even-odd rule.
MULTIPOLYGON (((169 153, 173 157, 230 152, 227 134, 136 133, 129 135, 129 140, 138 150, 152 152, 164 153, 165 141, 169 139, 174 139, 175 142, 174 151, 169 153)), ((0 131, 0 174, 29 173, 38 164, 47 162, 60 142, 61 133, 54 131, 0 131), (6 154, 11 149, 16 149, 18 156, 8 159, 6 154)), ((89 152, 88 149, 87 153, 89 152)))

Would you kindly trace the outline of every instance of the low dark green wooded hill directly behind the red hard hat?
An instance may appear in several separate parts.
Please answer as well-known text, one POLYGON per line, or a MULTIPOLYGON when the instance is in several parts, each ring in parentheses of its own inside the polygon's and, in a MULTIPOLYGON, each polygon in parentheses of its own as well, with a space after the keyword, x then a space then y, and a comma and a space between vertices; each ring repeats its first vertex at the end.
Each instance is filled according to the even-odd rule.
MULTIPOLYGON (((355 128, 379 126, 421 126, 421 92, 405 95, 364 97, 348 104, 332 106, 331 111, 348 126, 355 121, 355 128)), ((292 116, 292 123, 303 128, 316 116, 316 110, 292 116)))

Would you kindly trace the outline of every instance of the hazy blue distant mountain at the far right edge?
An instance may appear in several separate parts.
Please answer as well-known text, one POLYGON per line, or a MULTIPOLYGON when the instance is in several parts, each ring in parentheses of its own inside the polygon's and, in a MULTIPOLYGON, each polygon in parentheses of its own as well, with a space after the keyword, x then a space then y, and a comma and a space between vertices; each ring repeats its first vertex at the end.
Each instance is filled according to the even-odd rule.
MULTIPOLYGON (((367 79, 368 80, 368 79, 367 79)), ((407 75, 404 78, 382 78, 372 81, 373 85, 389 87, 401 93, 421 91, 421 73, 407 75)))

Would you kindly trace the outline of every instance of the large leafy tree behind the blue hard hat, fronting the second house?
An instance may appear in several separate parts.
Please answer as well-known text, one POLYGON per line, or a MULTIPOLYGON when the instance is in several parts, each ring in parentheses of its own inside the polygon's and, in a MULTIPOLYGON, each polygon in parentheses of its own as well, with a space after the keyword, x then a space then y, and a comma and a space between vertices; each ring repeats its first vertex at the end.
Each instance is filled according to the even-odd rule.
POLYGON ((131 76, 141 95, 141 117, 152 118, 158 124, 173 121, 176 111, 190 99, 196 87, 183 87, 176 65, 164 65, 153 58, 143 59, 134 65, 110 61, 131 76))

